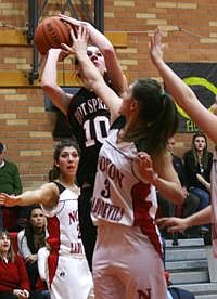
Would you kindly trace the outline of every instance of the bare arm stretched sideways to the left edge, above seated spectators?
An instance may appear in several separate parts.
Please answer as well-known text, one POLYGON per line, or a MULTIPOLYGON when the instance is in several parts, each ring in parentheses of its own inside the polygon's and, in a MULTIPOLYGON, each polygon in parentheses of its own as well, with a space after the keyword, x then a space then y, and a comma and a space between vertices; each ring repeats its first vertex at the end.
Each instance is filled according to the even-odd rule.
POLYGON ((17 196, 0 194, 0 205, 7 207, 31 206, 41 204, 47 208, 53 208, 59 200, 59 190, 54 183, 47 183, 35 191, 26 191, 17 196))

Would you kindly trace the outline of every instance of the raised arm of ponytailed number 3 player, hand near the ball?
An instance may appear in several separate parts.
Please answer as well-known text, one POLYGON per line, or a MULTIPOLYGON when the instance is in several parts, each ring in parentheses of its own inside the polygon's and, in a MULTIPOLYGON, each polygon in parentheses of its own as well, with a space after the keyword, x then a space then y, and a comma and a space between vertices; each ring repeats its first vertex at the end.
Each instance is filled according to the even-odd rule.
POLYGON ((93 90, 97 95, 106 104, 111 112, 111 121, 118 116, 122 99, 105 83, 102 75, 87 55, 88 31, 86 28, 77 29, 77 37, 71 30, 73 46, 62 44, 65 50, 76 55, 82 72, 86 86, 93 90))

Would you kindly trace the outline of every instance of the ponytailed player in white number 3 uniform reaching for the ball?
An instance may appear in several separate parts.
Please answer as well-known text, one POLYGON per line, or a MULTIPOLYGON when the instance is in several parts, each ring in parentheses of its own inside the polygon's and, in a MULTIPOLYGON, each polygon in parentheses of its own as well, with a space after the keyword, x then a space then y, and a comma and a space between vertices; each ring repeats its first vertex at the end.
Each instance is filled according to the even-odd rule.
POLYGON ((79 28, 73 46, 91 90, 107 105, 112 119, 103 143, 92 198, 98 225, 93 255, 97 299, 165 299, 161 239, 155 225, 155 187, 175 204, 183 200, 167 140, 177 112, 155 80, 138 80, 120 99, 110 89, 86 53, 88 32, 79 28))

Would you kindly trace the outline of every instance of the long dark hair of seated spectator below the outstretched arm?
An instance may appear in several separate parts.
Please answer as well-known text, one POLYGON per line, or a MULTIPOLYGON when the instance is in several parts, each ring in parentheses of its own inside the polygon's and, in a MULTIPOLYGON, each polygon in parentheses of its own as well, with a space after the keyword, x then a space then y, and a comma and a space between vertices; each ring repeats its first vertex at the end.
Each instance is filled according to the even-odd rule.
POLYGON ((37 246, 36 246, 35 242, 34 242, 35 231, 34 231, 34 225, 30 222, 30 218, 31 218, 31 212, 35 209, 41 210, 41 207, 39 205, 30 206, 30 208, 28 210, 28 214, 27 214, 27 221, 26 221, 25 233, 24 233, 24 235, 26 236, 26 239, 27 239, 28 248, 30 249, 30 252, 33 255, 37 253, 38 249, 46 246, 46 227, 43 227, 43 230, 41 232, 41 243, 37 244, 37 246))

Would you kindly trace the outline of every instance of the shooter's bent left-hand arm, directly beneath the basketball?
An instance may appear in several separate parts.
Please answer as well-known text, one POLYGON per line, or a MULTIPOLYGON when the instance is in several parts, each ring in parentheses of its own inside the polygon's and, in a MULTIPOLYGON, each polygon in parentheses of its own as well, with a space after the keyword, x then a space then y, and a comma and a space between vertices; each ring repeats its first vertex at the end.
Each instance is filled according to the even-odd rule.
POLYGON ((58 62, 63 54, 64 51, 62 49, 50 49, 48 51, 41 76, 41 88, 53 105, 64 114, 67 114, 72 94, 66 93, 58 84, 58 62))

